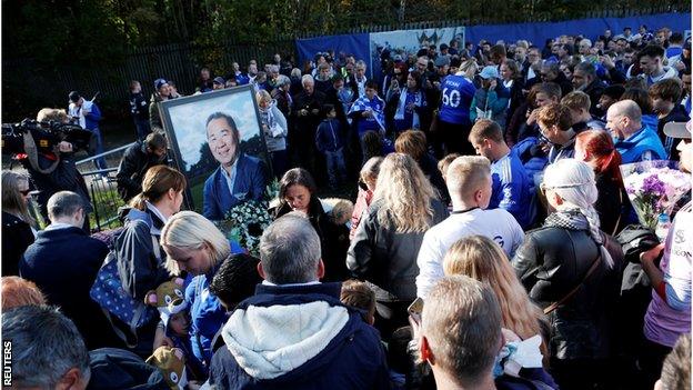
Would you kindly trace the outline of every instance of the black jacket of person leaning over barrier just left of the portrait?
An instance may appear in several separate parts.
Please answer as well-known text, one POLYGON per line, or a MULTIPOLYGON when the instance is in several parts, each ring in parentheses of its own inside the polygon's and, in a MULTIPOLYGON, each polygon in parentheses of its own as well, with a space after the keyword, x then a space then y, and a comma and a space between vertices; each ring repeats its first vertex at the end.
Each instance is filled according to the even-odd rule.
POLYGON ((142 179, 144 173, 154 166, 165 164, 165 157, 160 159, 154 153, 147 152, 147 146, 137 141, 128 148, 120 160, 116 180, 120 198, 128 202, 138 193, 142 192, 142 179))

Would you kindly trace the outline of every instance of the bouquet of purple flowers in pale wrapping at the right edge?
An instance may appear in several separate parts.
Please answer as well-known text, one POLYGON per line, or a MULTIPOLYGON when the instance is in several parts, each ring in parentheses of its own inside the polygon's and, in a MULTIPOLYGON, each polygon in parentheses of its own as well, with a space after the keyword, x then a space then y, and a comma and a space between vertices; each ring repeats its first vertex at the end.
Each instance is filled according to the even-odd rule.
POLYGON ((654 230, 660 214, 671 214, 691 190, 691 176, 675 161, 642 161, 621 166, 621 174, 640 223, 654 230))

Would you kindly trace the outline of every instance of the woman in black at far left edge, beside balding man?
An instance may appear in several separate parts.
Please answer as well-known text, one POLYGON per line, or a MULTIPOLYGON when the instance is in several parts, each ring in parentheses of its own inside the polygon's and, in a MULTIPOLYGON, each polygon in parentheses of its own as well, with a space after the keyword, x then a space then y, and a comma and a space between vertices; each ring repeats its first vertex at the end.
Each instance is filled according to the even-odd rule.
POLYGON ((19 260, 33 243, 36 222, 29 216, 29 178, 2 171, 2 276, 19 274, 19 260))

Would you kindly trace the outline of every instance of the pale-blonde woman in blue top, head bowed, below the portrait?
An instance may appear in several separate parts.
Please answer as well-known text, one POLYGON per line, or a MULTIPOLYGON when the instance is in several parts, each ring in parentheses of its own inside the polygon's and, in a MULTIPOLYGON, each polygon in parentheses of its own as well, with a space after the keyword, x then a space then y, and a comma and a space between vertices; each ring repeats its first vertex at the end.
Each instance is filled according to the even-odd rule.
POLYGON ((194 211, 181 211, 167 221, 161 231, 161 246, 167 253, 165 267, 171 273, 185 271, 193 276, 185 288, 192 352, 209 367, 212 339, 227 321, 227 310, 210 293, 209 286, 230 254, 242 253, 243 249, 229 242, 214 223, 194 211))

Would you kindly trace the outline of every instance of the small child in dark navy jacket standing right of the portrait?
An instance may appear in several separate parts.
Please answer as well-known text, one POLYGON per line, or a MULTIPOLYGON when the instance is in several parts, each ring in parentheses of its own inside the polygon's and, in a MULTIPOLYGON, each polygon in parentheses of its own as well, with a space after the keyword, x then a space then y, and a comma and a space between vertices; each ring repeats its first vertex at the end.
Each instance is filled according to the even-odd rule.
POLYGON ((315 132, 315 146, 324 154, 330 187, 335 189, 344 182, 346 177, 342 126, 337 119, 337 110, 333 104, 323 106, 323 116, 324 119, 315 132))

